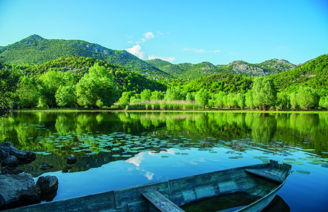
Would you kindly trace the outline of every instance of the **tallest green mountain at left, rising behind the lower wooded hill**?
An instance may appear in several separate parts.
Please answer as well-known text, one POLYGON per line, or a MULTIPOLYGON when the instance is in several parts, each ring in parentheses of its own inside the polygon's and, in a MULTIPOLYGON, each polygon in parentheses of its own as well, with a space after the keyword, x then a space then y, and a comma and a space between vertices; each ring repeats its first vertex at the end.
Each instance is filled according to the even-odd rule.
POLYGON ((44 39, 38 35, 31 35, 19 42, 0 48, 0 59, 14 65, 40 64, 69 55, 107 61, 122 66, 126 70, 139 71, 151 77, 167 78, 170 76, 125 50, 112 50, 80 40, 44 39))

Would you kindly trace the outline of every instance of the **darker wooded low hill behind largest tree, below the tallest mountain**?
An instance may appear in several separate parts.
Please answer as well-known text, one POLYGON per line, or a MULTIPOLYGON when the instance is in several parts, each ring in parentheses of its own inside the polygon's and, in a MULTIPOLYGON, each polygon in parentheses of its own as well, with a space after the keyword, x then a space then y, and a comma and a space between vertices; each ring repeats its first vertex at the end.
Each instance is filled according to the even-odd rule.
POLYGON ((113 72, 115 80, 119 85, 120 92, 136 91, 137 93, 140 93, 144 89, 161 91, 166 90, 165 85, 159 83, 158 81, 148 79, 137 71, 127 71, 121 66, 115 66, 106 61, 97 60, 91 57, 70 55, 42 64, 18 65, 16 67, 21 69, 26 75, 36 78, 40 74, 49 70, 62 72, 71 71, 76 74, 78 78, 81 78, 89 71, 89 68, 92 67, 94 63, 99 63, 99 65, 106 67, 108 71, 113 72))

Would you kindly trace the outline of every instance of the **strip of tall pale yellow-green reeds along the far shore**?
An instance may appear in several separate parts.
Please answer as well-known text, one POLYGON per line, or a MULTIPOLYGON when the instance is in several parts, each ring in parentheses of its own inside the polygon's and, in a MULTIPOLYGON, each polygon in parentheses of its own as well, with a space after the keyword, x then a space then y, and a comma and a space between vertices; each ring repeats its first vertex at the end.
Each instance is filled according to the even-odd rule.
POLYGON ((184 100, 176 101, 143 101, 137 103, 130 103, 128 106, 130 110, 200 110, 202 107, 196 102, 188 102, 184 100))

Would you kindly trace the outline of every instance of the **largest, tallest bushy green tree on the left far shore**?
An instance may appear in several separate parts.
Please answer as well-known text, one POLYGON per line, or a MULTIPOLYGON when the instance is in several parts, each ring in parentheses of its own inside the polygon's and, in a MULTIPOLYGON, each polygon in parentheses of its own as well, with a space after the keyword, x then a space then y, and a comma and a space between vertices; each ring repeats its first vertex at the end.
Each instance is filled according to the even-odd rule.
POLYGON ((79 105, 99 107, 97 101, 111 106, 117 101, 119 92, 113 73, 96 63, 77 83, 76 95, 79 105))

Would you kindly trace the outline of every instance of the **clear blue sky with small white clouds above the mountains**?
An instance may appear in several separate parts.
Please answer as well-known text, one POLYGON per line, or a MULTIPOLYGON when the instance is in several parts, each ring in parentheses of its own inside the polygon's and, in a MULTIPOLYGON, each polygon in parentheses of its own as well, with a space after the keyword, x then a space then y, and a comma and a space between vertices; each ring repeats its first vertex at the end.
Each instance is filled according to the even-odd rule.
POLYGON ((38 34, 174 64, 328 53, 327 0, 0 0, 0 46, 38 34))

